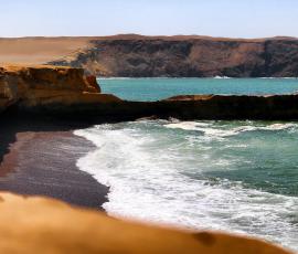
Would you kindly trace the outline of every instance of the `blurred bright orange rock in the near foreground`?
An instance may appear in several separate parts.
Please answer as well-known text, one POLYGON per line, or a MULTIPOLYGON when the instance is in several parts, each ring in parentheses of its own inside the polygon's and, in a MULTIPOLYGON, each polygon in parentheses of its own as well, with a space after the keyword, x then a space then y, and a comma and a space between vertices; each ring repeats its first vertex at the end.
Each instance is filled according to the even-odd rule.
POLYGON ((1 253, 288 253, 258 240, 141 225, 10 193, 0 193, 0 227, 1 253))

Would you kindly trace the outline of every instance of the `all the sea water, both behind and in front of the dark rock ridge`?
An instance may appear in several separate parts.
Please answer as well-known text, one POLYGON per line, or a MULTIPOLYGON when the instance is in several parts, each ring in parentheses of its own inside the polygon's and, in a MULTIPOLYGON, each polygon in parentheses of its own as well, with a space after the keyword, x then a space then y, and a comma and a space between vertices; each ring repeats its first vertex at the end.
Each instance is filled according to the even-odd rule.
MULTIPOLYGON (((285 94, 297 80, 99 80, 104 93, 285 94)), ((139 120, 75 131, 96 145, 77 161, 110 187, 104 209, 185 229, 248 234, 298 251, 298 123, 139 120)))

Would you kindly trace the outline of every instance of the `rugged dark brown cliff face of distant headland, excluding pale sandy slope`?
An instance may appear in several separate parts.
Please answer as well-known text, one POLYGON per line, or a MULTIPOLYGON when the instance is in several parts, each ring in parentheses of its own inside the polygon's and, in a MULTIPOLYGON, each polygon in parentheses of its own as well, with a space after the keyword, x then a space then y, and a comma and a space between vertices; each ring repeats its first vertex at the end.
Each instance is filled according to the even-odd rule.
POLYGON ((51 64, 99 76, 298 76, 298 40, 195 36, 94 39, 89 47, 51 64))

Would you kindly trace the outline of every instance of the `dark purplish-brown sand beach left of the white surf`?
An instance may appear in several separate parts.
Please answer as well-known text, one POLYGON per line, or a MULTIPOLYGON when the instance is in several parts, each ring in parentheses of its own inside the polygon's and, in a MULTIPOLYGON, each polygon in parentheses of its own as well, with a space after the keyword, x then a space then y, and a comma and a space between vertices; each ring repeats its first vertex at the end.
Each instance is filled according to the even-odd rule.
POLYGON ((0 191, 45 195, 74 205, 100 209, 108 188, 76 167, 93 145, 73 135, 83 126, 51 119, 0 123, 0 191))

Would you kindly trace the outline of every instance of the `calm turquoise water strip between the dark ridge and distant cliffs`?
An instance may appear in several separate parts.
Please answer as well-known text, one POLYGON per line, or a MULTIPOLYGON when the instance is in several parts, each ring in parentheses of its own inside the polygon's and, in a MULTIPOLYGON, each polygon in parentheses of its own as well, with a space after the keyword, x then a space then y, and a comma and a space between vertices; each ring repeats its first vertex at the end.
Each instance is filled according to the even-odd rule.
POLYGON ((287 94, 297 78, 98 78, 104 93, 124 99, 157 100, 185 94, 287 94))

